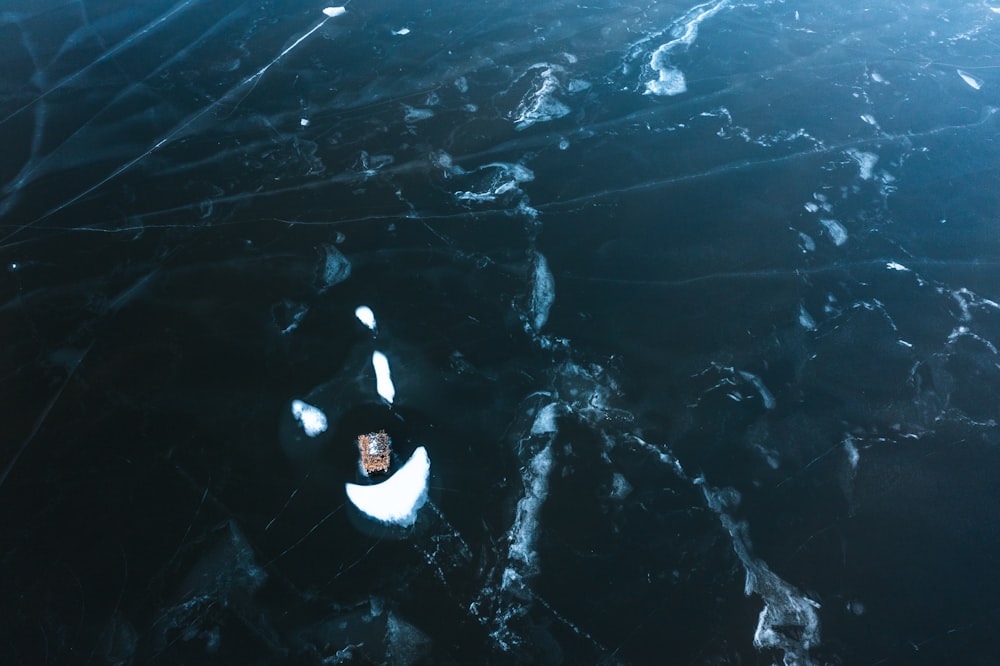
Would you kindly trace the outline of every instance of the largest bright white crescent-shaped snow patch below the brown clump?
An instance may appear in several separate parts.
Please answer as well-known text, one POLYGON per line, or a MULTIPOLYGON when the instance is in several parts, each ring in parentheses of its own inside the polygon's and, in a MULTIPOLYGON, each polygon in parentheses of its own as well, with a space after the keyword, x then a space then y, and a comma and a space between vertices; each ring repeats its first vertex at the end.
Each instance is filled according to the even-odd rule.
POLYGON ((406 464, 382 483, 359 486, 345 483, 347 499, 363 514, 383 523, 409 527, 427 501, 427 479, 431 461, 420 446, 406 464))

